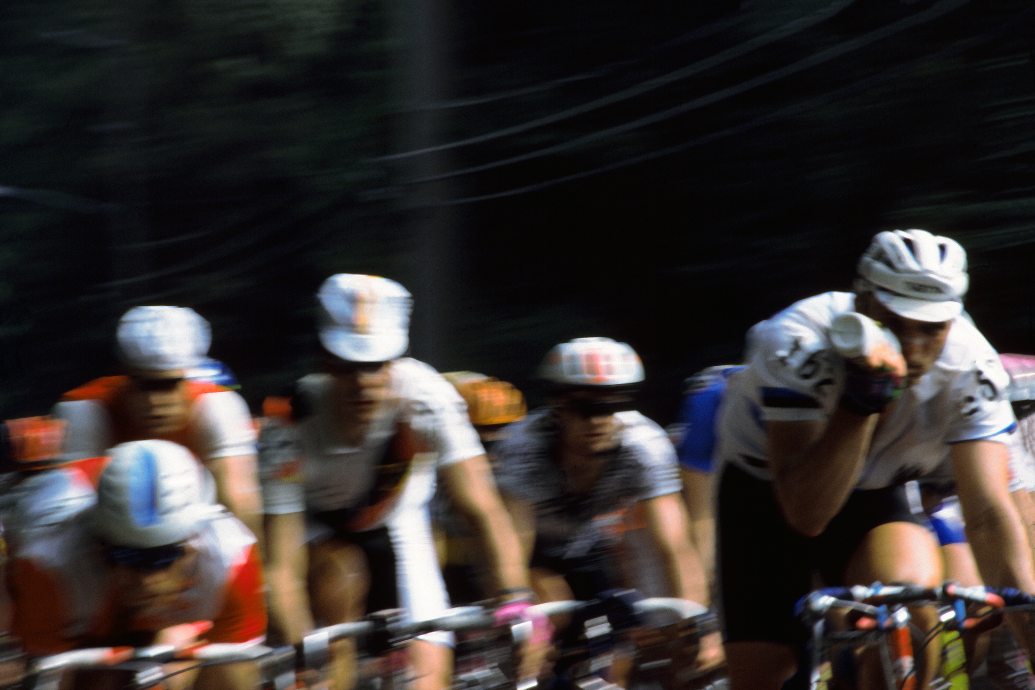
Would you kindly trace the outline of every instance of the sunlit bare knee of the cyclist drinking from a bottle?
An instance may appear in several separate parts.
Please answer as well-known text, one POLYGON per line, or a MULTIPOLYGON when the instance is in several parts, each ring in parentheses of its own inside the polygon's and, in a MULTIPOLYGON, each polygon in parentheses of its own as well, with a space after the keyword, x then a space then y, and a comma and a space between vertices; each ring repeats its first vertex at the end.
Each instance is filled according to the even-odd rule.
POLYGON ((936 587, 942 560, 929 531, 913 522, 887 522, 870 530, 849 561, 848 584, 911 582, 936 587))

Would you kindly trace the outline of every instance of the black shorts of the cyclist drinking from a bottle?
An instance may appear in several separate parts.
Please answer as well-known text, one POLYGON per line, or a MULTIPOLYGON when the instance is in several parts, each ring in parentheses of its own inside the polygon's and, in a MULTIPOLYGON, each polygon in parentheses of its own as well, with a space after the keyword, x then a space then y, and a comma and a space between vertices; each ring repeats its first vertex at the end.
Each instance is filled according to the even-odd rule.
POLYGON ((719 483, 718 562, 727 641, 800 646, 804 626, 794 604, 818 573, 824 587, 844 584, 849 559, 866 534, 888 522, 921 524, 903 485, 855 490, 818 537, 791 529, 769 482, 727 464, 719 483))

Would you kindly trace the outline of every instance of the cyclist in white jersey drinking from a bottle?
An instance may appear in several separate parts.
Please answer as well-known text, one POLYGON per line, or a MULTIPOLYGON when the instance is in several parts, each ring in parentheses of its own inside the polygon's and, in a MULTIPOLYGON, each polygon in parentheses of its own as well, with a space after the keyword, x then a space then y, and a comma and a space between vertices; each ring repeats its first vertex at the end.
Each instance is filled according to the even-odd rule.
MULTIPOLYGON (((966 267, 953 240, 883 232, 859 262, 855 294, 802 300, 749 331, 748 367, 730 381, 716 451, 734 690, 775 689, 794 672, 804 632, 792 608, 814 569, 829 584, 940 581, 937 546, 904 484, 934 470, 947 445, 986 581, 1035 588, 1006 484, 1008 378, 960 317, 966 267), (901 354, 837 355, 831 323, 853 311, 890 329, 901 354)), ((929 628, 930 614, 917 619, 929 628)), ((921 680, 937 654, 928 646, 921 680)))

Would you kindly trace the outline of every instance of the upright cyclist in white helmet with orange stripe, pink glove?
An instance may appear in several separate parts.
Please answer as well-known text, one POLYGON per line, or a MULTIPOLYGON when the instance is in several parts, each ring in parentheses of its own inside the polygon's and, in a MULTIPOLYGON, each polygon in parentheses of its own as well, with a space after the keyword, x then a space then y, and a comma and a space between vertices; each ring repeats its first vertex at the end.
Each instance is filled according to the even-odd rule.
MULTIPOLYGON (((463 399, 403 356, 410 294, 342 273, 317 297, 323 372, 278 401, 280 416, 260 438, 270 611, 286 641, 297 643, 315 621, 384 608, 424 620, 448 606, 427 515, 437 475, 481 538, 496 589, 524 592, 518 537, 463 399)), ((274 413, 272 400, 266 411, 274 413)), ((418 688, 449 686, 448 644, 433 633, 410 646, 418 688)), ((337 646, 336 686, 350 685, 353 670, 349 646, 337 646)))

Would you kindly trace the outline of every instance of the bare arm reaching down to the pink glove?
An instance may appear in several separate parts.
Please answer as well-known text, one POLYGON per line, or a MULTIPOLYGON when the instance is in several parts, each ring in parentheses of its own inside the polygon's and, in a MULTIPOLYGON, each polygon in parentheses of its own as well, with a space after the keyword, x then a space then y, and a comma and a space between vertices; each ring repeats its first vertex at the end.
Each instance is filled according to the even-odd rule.
POLYGON ((471 521, 500 590, 528 587, 528 569, 510 514, 496 490, 484 455, 452 462, 440 471, 456 508, 471 521))

